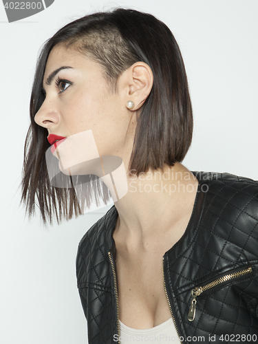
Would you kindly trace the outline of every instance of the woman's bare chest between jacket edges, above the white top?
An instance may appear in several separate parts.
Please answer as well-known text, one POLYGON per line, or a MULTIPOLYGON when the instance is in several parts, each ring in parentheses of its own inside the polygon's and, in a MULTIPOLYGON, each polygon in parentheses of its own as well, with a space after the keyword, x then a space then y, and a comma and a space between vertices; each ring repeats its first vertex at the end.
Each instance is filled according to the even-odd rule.
POLYGON ((151 328, 171 318, 166 299, 162 253, 130 258, 117 255, 120 321, 136 329, 151 328))

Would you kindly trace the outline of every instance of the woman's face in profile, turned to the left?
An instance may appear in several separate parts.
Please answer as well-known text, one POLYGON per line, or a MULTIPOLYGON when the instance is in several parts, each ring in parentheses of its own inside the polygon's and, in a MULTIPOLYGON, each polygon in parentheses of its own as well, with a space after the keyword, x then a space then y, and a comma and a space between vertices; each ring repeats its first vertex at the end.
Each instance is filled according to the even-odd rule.
POLYGON ((136 120, 126 107, 130 87, 123 78, 118 81, 118 92, 112 94, 98 63, 62 46, 50 52, 42 85, 46 96, 34 120, 48 136, 67 138, 53 151, 62 157, 63 169, 81 168, 80 162, 102 155, 123 160, 131 155, 136 120))

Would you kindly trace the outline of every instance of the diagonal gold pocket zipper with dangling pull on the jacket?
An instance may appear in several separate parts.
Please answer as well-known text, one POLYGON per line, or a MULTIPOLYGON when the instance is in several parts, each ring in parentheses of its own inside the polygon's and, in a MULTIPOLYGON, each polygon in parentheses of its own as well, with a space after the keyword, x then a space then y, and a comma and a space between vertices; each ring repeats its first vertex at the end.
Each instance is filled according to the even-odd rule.
POLYGON ((224 275, 223 277, 220 277, 219 279, 215 279, 215 281, 212 281, 206 284, 205 286, 195 287, 194 289, 192 289, 193 299, 192 299, 191 307, 188 314, 188 320, 193 321, 195 319, 195 308, 196 308, 196 303, 197 303, 196 297, 202 294, 202 292, 205 292, 206 290, 211 289, 220 283, 246 275, 250 272, 252 272, 252 268, 246 268, 244 270, 233 272, 232 274, 229 274, 229 275, 224 275))

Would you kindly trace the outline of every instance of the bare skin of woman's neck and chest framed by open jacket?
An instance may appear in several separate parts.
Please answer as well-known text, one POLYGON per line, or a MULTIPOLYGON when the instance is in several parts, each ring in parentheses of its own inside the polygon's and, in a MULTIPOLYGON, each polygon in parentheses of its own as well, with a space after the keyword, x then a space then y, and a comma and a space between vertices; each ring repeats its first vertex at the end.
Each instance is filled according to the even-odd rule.
MULTIPOLYGON (((181 164, 175 167, 178 171, 185 169, 188 173, 181 164)), ((170 182, 176 184, 176 180, 170 182)), ((184 234, 198 185, 194 177, 187 182, 180 180, 180 183, 185 187, 189 185, 189 190, 192 185, 193 191, 176 191, 163 204, 163 211, 152 209, 152 213, 149 213, 149 207, 146 207, 149 222, 145 226, 128 228, 125 223, 128 219, 118 217, 114 230, 118 304, 120 321, 129 327, 151 328, 171 318, 164 292, 162 257, 184 234)), ((131 213, 131 222, 136 223, 133 215, 131 213)))

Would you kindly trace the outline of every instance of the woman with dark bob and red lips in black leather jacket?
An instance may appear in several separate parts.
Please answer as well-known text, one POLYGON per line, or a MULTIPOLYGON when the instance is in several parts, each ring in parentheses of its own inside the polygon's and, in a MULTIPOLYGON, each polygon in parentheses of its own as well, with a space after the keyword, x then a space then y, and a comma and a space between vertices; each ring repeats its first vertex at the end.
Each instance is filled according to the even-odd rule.
POLYGON ((39 56, 30 116, 29 213, 35 195, 44 221, 82 213, 85 175, 115 201, 78 246, 89 343, 256 343, 258 185, 182 165, 193 116, 169 28, 122 8, 65 25, 39 56))

